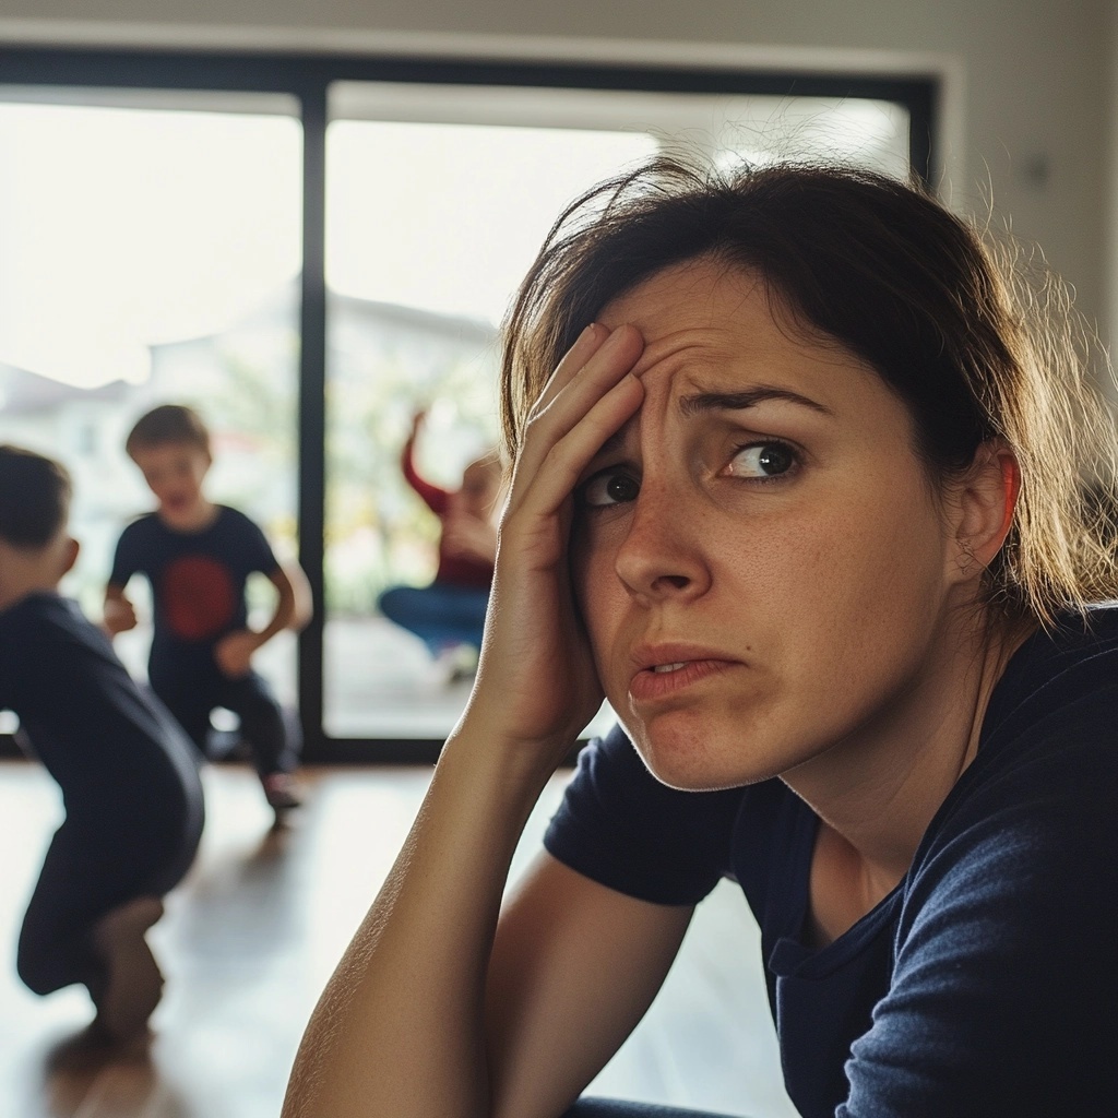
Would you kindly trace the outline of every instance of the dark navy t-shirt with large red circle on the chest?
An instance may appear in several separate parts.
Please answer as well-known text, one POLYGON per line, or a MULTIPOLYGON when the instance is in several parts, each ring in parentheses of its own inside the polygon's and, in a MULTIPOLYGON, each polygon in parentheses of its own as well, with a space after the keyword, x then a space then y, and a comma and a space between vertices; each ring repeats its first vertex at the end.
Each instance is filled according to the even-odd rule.
POLYGON ((214 645, 247 625, 245 584, 280 563, 260 529, 244 513, 218 505, 200 531, 169 528, 158 513, 132 521, 116 544, 112 586, 136 574, 151 582, 154 604, 152 663, 211 662, 214 645))

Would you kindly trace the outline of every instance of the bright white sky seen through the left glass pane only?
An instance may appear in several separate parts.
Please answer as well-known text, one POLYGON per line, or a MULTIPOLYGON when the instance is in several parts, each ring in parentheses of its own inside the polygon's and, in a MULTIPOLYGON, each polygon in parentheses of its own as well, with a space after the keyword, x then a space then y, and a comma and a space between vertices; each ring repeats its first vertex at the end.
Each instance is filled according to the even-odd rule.
POLYGON ((0 360, 141 380, 299 271, 301 130, 282 116, 0 104, 0 360))

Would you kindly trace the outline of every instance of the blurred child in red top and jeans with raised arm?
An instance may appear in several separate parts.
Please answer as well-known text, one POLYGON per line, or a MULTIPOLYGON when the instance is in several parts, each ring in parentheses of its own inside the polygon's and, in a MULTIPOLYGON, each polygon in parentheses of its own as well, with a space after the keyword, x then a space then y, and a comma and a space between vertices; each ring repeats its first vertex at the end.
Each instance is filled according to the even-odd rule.
POLYGON ((493 563, 496 559, 494 512, 501 490, 496 454, 471 462, 462 485, 447 491, 420 477, 415 444, 424 414, 411 420, 400 465, 408 484, 442 522, 438 569, 429 586, 394 586, 378 599, 380 612, 415 633, 451 678, 466 674, 477 662, 493 563))

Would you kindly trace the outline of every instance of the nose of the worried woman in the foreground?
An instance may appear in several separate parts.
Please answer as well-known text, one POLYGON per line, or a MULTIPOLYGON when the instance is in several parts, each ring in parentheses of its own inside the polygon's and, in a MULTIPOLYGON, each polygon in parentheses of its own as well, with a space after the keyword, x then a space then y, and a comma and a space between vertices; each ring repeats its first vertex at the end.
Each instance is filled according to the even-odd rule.
POLYGON ((700 525, 683 494, 642 485, 614 559, 631 594, 648 601, 698 597, 710 586, 700 525))

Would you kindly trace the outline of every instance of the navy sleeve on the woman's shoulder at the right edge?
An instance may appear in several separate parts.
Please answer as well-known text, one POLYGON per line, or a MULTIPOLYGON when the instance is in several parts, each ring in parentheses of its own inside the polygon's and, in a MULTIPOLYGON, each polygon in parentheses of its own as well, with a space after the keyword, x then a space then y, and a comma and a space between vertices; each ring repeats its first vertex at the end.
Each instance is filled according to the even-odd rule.
POLYGON ((911 882, 837 1118, 1111 1112, 1118 766, 1098 746, 1114 731, 1065 710, 1049 732, 1095 748, 1042 766, 1023 749, 911 882))

